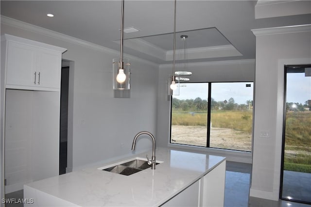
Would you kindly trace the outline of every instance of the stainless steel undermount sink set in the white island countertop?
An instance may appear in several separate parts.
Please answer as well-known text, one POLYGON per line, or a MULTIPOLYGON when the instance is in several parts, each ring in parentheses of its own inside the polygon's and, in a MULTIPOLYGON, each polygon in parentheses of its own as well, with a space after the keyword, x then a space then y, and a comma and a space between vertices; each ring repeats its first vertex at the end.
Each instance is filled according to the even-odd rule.
MULTIPOLYGON (((160 163, 161 161, 155 162, 156 165, 160 163)), ((148 165, 147 160, 136 158, 130 161, 127 160, 122 163, 117 163, 115 165, 110 165, 99 169, 121 175, 132 175, 148 168, 151 168, 151 165, 148 165)))

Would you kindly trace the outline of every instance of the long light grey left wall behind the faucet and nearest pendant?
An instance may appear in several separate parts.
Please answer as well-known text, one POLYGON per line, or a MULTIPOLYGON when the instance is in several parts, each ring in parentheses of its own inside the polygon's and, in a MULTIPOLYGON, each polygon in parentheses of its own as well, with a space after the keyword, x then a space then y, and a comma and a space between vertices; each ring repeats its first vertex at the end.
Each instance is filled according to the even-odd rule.
MULTIPOLYGON (((71 61, 69 168, 80 169, 132 154, 136 133, 148 130, 155 134, 157 64, 124 55, 132 63, 131 97, 114 98, 112 59, 119 57, 118 51, 1 16, 1 34, 4 33, 68 49, 63 59, 71 61)), ((136 151, 149 149, 151 145, 149 139, 142 137, 136 151)))

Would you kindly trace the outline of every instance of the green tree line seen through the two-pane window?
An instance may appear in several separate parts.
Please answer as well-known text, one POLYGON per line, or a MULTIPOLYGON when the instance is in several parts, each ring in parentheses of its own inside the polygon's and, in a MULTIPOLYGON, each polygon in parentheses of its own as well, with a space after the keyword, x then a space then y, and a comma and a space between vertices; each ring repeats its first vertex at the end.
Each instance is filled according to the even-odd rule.
MULTIPOLYGON (((200 97, 195 99, 178 99, 173 98, 172 107, 175 109, 181 109, 182 111, 205 111, 207 110, 207 100, 200 97)), ((253 101, 248 100, 245 104, 235 103, 234 98, 229 98, 225 101, 215 101, 211 98, 210 103, 211 110, 249 110, 253 107, 253 101)))

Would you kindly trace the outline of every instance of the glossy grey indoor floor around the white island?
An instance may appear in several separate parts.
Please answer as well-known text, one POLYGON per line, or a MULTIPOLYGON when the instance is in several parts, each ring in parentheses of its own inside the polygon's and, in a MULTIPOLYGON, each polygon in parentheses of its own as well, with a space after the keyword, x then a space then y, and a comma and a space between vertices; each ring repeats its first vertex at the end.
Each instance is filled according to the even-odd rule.
MULTIPOLYGON (((239 162, 226 163, 225 207, 311 207, 311 205, 288 201, 271 201, 249 197, 252 165, 239 162)), ((6 194, 6 198, 23 198, 23 190, 6 194)), ((6 207, 22 207, 11 204, 6 207)))

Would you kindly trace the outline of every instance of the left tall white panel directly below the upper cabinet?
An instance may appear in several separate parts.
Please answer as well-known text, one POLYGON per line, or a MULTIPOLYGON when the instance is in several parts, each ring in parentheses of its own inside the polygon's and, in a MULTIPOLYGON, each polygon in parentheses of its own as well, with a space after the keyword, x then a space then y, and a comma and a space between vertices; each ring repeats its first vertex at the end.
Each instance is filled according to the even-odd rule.
POLYGON ((5 98, 5 193, 33 182, 33 92, 6 90, 5 98))

